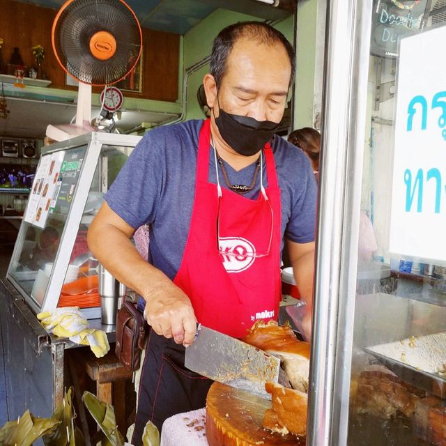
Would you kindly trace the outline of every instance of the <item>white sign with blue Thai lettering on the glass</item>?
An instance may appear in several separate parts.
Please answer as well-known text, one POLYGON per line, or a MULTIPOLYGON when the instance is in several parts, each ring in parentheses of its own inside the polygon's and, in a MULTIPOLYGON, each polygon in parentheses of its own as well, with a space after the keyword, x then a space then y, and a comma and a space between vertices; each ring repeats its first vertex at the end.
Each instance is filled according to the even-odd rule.
POLYGON ((446 26, 401 39, 390 252, 446 261, 446 26))

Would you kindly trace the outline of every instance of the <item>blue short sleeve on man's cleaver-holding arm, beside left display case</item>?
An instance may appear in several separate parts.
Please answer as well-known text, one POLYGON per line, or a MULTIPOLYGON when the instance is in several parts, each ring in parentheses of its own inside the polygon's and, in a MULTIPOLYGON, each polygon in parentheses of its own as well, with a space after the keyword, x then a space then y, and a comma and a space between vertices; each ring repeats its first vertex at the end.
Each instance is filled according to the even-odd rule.
POLYGON ((155 220, 164 181, 164 143, 153 130, 144 135, 105 194, 108 206, 132 228, 155 220))

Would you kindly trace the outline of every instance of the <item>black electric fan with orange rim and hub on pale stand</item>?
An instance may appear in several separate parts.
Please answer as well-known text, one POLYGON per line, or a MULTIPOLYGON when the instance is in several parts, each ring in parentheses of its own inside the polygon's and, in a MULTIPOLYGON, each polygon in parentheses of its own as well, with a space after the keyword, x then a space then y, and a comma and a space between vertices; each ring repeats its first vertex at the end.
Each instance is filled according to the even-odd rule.
POLYGON ((75 125, 48 125, 47 137, 63 141, 91 132, 91 86, 127 76, 141 55, 141 27, 123 0, 68 0, 52 27, 56 59, 79 81, 75 125))

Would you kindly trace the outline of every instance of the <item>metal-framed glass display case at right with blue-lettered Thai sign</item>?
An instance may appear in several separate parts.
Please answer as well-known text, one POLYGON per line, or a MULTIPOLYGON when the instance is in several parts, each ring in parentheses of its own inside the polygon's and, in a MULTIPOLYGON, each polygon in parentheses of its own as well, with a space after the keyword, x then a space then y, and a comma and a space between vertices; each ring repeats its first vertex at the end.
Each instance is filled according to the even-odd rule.
POLYGON ((309 445, 446 445, 444 9, 329 2, 309 445))

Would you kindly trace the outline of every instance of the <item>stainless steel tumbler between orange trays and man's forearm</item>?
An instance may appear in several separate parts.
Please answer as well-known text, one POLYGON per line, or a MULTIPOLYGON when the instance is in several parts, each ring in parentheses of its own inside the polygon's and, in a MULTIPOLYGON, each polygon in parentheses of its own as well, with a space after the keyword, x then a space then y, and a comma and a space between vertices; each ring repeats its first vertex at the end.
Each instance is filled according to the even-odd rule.
POLYGON ((116 313, 121 308, 126 288, 101 264, 98 266, 100 318, 105 325, 116 324, 116 313))

